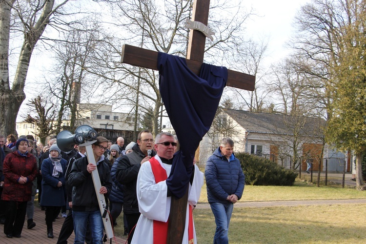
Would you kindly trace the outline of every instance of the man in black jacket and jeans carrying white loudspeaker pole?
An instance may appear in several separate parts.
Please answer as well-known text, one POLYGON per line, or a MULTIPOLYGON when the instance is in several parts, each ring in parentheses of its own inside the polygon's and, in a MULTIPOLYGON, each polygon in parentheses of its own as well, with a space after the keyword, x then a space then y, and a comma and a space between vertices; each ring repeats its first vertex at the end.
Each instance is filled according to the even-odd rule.
POLYGON ((104 163, 104 151, 107 149, 108 140, 97 137, 91 147, 96 164, 89 163, 87 157, 76 160, 68 175, 67 183, 73 187, 72 191, 72 216, 74 219, 75 242, 84 243, 86 224, 89 221, 92 233, 92 243, 103 242, 103 220, 99 208, 99 200, 95 193, 92 172, 98 170, 102 187, 100 194, 109 195, 112 188, 112 178, 109 166, 104 163))

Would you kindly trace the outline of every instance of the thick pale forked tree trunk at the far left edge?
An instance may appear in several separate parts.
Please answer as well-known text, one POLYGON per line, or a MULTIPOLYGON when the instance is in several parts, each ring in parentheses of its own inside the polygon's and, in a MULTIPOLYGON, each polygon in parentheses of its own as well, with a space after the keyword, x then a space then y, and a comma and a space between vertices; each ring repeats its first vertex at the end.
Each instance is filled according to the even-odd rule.
POLYGON ((24 86, 28 73, 29 61, 37 41, 47 26, 52 12, 54 0, 48 0, 43 6, 40 19, 27 25, 28 32, 24 33, 24 41, 20 50, 19 61, 12 88, 9 83, 9 41, 10 41, 10 10, 15 0, 6 3, 0 1, 0 133, 7 136, 16 134, 16 120, 21 103, 25 100, 24 86))

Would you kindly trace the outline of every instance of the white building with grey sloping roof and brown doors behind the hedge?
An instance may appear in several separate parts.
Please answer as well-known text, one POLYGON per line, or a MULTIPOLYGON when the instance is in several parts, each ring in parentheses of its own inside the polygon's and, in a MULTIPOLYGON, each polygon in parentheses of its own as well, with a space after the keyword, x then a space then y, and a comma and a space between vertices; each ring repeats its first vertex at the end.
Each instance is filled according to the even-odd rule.
POLYGON ((326 160, 329 171, 343 171, 345 154, 325 145, 321 156, 324 125, 319 118, 224 109, 200 143, 199 162, 205 164, 220 140, 229 136, 235 142, 236 153, 256 154, 285 168, 297 159, 302 162, 302 170, 306 169, 307 158, 313 162, 313 170, 319 165, 325 170, 326 160))

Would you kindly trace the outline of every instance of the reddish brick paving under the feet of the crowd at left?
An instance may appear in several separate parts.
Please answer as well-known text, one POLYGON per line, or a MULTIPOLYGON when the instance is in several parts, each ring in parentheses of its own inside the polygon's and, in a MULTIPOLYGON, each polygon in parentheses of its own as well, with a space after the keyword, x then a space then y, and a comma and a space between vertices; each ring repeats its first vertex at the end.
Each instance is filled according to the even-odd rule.
MULTIPOLYGON (((47 238, 47 227, 46 222, 44 220, 45 214, 44 211, 41 211, 40 207, 34 208, 34 217, 33 221, 37 224, 32 229, 27 229, 27 217, 25 217, 25 223, 23 230, 21 232, 21 238, 6 238, 4 234, 4 227, 0 225, 0 243, 6 244, 56 244, 57 239, 59 238, 59 233, 61 230, 61 226, 63 224, 64 218, 60 216, 53 223, 53 235, 55 238, 50 239, 47 238)), ((68 243, 74 243, 75 235, 74 233, 68 239, 68 243)), ((110 240, 108 239, 107 243, 109 244, 110 240)), ((115 240, 112 239, 112 244, 125 244, 126 238, 116 236, 115 240)))

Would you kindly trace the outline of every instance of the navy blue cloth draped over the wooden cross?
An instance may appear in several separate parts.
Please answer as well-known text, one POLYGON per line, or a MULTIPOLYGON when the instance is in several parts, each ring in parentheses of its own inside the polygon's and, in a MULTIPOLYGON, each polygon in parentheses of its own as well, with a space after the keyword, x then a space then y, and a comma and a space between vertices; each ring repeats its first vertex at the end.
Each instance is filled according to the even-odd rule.
POLYGON ((185 59, 159 53, 159 87, 166 112, 180 143, 166 180, 170 192, 183 197, 192 174, 195 152, 209 130, 227 81, 227 69, 203 63, 195 75, 185 59))

